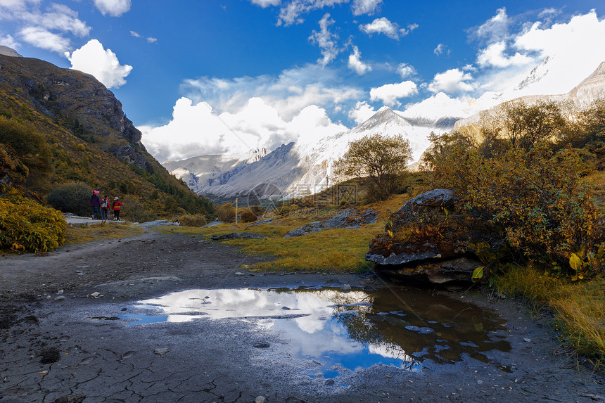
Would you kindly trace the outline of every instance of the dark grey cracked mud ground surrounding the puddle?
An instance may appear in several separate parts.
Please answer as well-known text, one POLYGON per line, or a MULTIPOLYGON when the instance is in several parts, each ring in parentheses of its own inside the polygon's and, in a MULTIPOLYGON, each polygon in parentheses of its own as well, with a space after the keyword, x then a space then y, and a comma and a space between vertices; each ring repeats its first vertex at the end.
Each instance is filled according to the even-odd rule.
POLYGON ((0 257, 0 402, 605 402, 603 378, 559 354, 542 321, 481 295, 472 299, 507 321, 498 332, 510 352, 417 373, 375 365, 336 383, 302 376, 286 358, 262 359, 266 349, 255 345, 288 340, 267 338, 250 321, 112 320, 136 300, 189 288, 381 286, 355 274, 235 275, 261 258, 155 231, 0 257))

